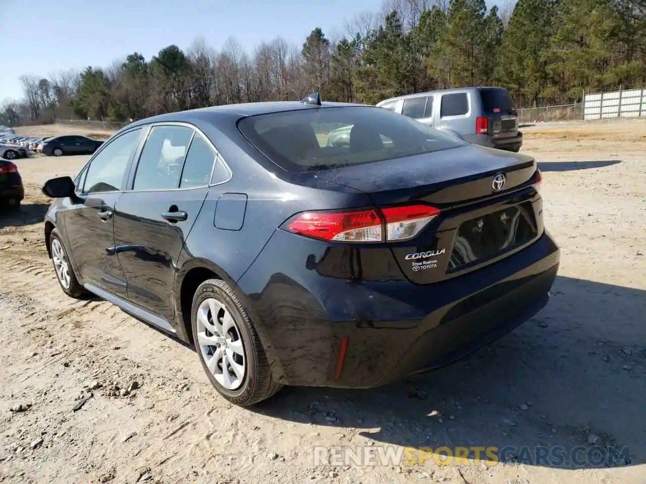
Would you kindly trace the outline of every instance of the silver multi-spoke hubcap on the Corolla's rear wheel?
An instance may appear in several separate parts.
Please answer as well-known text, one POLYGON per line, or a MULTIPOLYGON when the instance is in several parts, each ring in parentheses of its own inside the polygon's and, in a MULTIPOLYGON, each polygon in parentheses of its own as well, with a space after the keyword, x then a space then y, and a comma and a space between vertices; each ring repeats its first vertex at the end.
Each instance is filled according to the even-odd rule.
POLYGON ((227 390, 240 388, 247 358, 240 329, 224 304, 209 297, 198 308, 198 343, 209 372, 227 390))

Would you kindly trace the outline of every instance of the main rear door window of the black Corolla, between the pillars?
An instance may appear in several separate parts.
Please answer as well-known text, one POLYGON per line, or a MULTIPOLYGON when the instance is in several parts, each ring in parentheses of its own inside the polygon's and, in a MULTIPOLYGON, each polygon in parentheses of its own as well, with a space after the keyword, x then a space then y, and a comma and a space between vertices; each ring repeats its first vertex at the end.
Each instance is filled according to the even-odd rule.
POLYGON ((153 126, 141 150, 132 190, 179 188, 193 133, 186 126, 153 126))

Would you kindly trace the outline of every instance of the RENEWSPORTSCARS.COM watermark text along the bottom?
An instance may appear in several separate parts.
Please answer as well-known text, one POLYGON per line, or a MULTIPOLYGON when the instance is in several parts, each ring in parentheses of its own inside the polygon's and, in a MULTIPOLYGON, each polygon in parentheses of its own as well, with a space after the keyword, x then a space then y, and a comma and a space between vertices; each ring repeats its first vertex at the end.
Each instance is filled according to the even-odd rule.
POLYGON ((528 465, 545 467, 599 468, 619 467, 630 463, 628 447, 605 449, 584 447, 566 449, 561 446, 536 447, 399 447, 357 446, 323 447, 313 449, 314 465, 317 466, 413 466, 424 463, 437 465, 488 465, 517 461, 528 465))

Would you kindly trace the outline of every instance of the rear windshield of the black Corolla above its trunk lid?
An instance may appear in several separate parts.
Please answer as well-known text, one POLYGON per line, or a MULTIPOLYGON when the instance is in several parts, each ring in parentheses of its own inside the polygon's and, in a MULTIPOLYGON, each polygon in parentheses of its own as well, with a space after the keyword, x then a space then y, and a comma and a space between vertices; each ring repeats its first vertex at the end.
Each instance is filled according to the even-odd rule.
POLYGON ((315 171, 463 146, 409 117, 372 106, 311 108, 249 116, 238 128, 276 165, 315 171))

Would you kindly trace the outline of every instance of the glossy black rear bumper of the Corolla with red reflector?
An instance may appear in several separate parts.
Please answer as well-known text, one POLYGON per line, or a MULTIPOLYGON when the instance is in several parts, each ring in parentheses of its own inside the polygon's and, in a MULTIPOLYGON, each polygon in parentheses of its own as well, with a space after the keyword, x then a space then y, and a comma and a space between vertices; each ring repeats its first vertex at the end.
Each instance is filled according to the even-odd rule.
MULTIPOLYGON (((273 376, 286 385, 375 387, 461 358, 543 308, 560 259, 545 232, 497 263, 415 285, 324 277, 317 245, 278 230, 238 281, 273 376)), ((355 261, 340 264, 357 265, 346 252, 355 261)))

